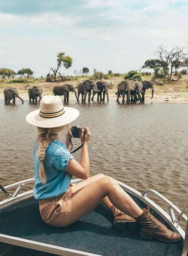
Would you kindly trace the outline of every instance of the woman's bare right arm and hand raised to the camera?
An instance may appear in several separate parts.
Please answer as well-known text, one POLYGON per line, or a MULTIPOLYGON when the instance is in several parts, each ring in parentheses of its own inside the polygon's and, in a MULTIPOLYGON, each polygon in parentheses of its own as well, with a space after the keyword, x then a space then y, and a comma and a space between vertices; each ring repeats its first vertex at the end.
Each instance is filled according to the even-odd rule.
POLYGON ((72 159, 67 164, 66 172, 69 174, 79 178, 79 179, 87 179, 89 177, 90 172, 90 161, 87 150, 88 141, 91 138, 90 130, 87 127, 82 127, 81 131, 81 143, 83 143, 84 135, 83 131, 87 129, 87 134, 85 134, 85 144, 81 148, 81 161, 78 163, 75 159, 72 159))

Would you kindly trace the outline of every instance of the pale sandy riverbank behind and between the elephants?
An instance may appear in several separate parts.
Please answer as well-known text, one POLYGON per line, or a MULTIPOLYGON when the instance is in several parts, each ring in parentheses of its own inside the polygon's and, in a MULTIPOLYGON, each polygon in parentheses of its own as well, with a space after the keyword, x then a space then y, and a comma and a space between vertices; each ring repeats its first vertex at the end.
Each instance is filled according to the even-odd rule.
MULTIPOLYGON (((29 100, 28 88, 29 86, 42 86, 43 96, 52 95, 52 88, 57 84, 69 83, 76 87, 76 85, 84 80, 84 78, 78 78, 75 80, 70 80, 67 82, 44 82, 44 81, 34 81, 31 83, 11 83, 11 82, 0 82, 0 98, 4 99, 3 90, 7 86, 15 87, 23 100, 29 100)), ((86 79, 86 78, 85 78, 86 79)), ((112 77, 111 79, 106 79, 107 82, 112 82, 112 89, 109 89, 109 100, 116 100, 115 95, 117 91, 117 85, 123 80, 122 77, 112 77)), ((96 101, 94 97, 94 101, 96 101)), ((69 98, 71 100, 76 100, 74 93, 69 93, 69 98)), ((19 100, 19 99, 17 99, 19 100)), ((81 95, 80 95, 81 100, 81 95)), ((119 99, 121 102, 122 98, 119 99)), ((154 97, 151 99, 151 90, 146 90, 145 101, 150 102, 177 102, 177 103, 188 103, 188 75, 184 75, 182 79, 177 82, 171 82, 164 84, 163 86, 154 86, 154 97)))

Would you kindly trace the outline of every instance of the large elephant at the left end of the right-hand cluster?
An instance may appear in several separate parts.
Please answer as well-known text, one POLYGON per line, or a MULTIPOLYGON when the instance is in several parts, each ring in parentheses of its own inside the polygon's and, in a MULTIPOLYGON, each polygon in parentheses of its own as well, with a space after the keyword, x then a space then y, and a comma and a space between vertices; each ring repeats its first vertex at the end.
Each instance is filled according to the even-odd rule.
POLYGON ((131 102, 136 101, 136 84, 133 80, 123 80, 118 84, 118 97, 117 102, 119 102, 119 97, 122 95, 122 103, 125 102, 125 94, 127 94, 127 102, 130 102, 130 95, 131 95, 131 102))

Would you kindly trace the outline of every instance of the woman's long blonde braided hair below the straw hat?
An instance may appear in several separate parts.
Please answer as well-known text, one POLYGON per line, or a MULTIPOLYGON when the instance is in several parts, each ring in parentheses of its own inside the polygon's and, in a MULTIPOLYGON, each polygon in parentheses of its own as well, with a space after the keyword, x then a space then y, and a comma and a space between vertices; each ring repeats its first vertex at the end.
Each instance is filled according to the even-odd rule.
POLYGON ((51 141, 58 139, 59 132, 62 131, 65 128, 65 126, 67 127, 67 129, 69 129, 68 125, 52 128, 37 127, 36 143, 40 143, 37 152, 38 159, 40 161, 38 174, 43 184, 46 183, 46 175, 43 160, 45 159, 47 147, 49 146, 49 143, 51 141))

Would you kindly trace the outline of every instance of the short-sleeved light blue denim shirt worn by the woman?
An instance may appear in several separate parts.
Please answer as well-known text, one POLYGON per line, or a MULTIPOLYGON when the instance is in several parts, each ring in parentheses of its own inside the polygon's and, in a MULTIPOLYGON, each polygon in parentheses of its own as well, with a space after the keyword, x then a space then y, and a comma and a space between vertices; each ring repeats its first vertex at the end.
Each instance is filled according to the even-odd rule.
POLYGON ((38 170, 40 162, 37 156, 38 145, 34 144, 34 197, 42 200, 50 197, 55 197, 67 191, 72 179, 72 175, 65 172, 70 159, 73 159, 72 154, 67 150, 64 143, 59 140, 53 140, 47 147, 43 165, 45 168, 46 184, 42 184, 38 170))

